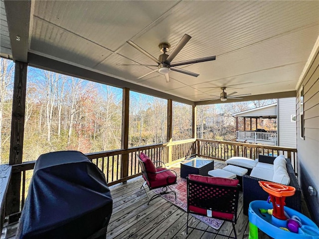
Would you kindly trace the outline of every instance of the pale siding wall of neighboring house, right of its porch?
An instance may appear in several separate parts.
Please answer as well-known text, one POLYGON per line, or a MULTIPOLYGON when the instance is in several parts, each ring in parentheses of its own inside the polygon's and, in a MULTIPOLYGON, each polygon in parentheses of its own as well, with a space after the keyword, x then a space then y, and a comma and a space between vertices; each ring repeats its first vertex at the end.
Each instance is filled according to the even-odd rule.
POLYGON ((296 98, 278 99, 278 146, 297 147, 296 122, 291 116, 296 115, 296 98))

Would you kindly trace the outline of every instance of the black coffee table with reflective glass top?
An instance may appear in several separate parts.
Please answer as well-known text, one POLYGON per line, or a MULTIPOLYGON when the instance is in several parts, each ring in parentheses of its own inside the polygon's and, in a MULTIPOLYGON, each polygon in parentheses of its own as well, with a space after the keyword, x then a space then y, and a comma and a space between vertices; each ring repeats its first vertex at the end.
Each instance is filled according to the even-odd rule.
POLYGON ((208 171, 214 169, 214 160, 193 157, 180 163, 180 177, 186 178, 188 174, 209 176, 208 171))

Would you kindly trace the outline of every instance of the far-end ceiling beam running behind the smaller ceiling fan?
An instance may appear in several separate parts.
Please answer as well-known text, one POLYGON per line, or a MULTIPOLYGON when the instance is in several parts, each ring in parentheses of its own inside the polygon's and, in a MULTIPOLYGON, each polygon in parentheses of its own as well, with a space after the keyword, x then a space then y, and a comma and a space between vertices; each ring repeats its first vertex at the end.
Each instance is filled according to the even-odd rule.
POLYGON ((296 91, 276 92, 276 93, 270 93, 270 94, 245 96, 245 97, 242 97, 243 99, 227 99, 227 101, 220 101, 220 100, 197 101, 195 102, 195 106, 235 103, 235 102, 244 102, 244 101, 282 99, 282 98, 296 97, 296 95, 297 95, 296 91))

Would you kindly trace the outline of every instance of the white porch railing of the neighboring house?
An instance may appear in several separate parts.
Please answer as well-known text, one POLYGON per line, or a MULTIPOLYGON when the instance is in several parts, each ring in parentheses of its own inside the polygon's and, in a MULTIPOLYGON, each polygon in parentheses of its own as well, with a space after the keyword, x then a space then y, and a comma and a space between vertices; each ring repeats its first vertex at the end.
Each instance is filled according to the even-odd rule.
POLYGON ((277 146, 277 131, 236 131, 236 141, 247 143, 262 143, 277 146))

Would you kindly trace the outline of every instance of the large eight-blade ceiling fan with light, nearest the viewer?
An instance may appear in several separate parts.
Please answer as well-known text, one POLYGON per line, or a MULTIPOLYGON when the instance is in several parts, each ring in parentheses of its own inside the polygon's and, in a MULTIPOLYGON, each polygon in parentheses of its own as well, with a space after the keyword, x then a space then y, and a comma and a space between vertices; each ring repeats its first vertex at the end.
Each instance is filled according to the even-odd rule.
POLYGON ((150 53, 139 47, 137 44, 135 44, 133 41, 127 41, 131 46, 133 46, 135 49, 139 50, 142 52, 144 55, 147 57, 151 58, 153 61, 155 61, 158 65, 140 65, 140 64, 117 64, 120 66, 156 66, 158 69, 151 71, 148 74, 145 74, 144 76, 139 77, 138 79, 141 79, 145 76, 148 76, 152 74, 153 72, 158 71, 160 74, 165 76, 166 82, 169 82, 169 75, 168 73, 170 71, 177 71, 189 76, 194 76, 197 77, 199 76, 196 73, 186 71, 180 68, 176 68, 175 66, 181 66, 181 65, 188 65, 188 64, 193 64, 193 63, 198 63, 198 62, 205 62, 205 61, 213 61, 216 59, 216 56, 209 56, 209 57, 203 57, 203 58, 198 58, 198 59, 193 59, 193 60, 186 60, 186 61, 179 61, 175 63, 171 63, 171 61, 175 58, 175 56, 179 53, 179 51, 186 45, 186 43, 190 40, 191 36, 184 34, 184 36, 181 38, 181 40, 177 43, 175 48, 172 50, 172 52, 167 55, 166 52, 169 50, 170 44, 167 42, 161 42, 159 44, 160 51, 163 53, 159 56, 159 59, 156 59, 154 56, 152 56, 150 53))

